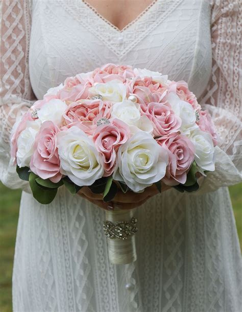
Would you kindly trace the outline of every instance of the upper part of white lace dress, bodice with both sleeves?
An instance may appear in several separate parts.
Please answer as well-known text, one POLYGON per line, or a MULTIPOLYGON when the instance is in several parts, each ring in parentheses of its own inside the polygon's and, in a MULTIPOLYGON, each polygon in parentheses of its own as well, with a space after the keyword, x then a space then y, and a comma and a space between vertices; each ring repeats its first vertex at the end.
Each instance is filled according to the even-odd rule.
POLYGON ((16 118, 51 86, 107 62, 132 64, 188 81, 191 91, 213 116, 221 138, 222 151, 218 151, 217 159, 222 159, 222 166, 231 173, 221 173, 218 161, 204 191, 238 182, 240 2, 159 0, 119 31, 80 0, 33 0, 33 4, 29 0, 4 1, 0 102, 4 183, 19 186, 19 181, 16 185, 13 182, 14 171, 9 165, 9 138, 16 118))

